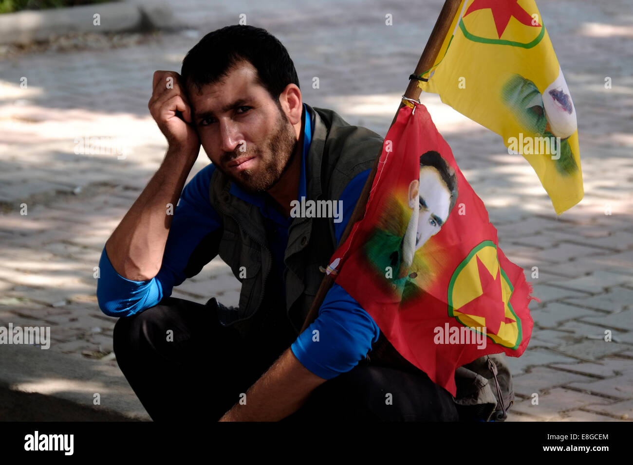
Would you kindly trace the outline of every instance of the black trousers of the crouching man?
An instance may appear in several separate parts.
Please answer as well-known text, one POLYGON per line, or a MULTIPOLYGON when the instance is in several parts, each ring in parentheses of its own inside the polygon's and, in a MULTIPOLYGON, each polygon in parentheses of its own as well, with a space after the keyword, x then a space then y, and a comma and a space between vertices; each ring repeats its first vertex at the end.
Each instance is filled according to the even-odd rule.
MULTIPOLYGON (((154 421, 216 421, 288 345, 244 340, 210 305, 169 297, 116 322, 116 361, 154 421)), ((248 399, 247 399, 248 401, 248 399)), ((284 421, 457 421, 449 392, 420 373, 361 361, 284 421)))

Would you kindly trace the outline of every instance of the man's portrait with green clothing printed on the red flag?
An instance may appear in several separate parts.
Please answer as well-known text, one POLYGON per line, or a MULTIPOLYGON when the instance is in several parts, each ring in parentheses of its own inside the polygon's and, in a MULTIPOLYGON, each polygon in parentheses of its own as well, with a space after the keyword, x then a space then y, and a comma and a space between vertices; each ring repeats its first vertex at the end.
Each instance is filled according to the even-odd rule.
MULTIPOLYGON (((415 299, 420 288, 415 278, 420 270, 411 270, 415 252, 448 220, 457 201, 457 178, 436 151, 420 156, 420 176, 409 184, 406 204, 411 209, 406 228, 400 224, 404 214, 394 214, 400 202, 385 208, 382 223, 365 245, 367 259, 385 277, 385 285, 402 296, 402 301, 415 299), (396 224, 393 224, 395 221, 396 224), (404 234, 400 231, 404 228, 404 234)), ((394 199, 396 200, 396 199, 394 199)))

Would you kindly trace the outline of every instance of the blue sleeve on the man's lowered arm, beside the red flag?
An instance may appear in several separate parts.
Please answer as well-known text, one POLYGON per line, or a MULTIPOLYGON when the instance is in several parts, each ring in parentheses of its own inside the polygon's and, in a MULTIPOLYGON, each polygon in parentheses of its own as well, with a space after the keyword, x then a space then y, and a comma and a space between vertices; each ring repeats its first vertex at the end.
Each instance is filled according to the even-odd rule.
MULTIPOLYGON (((341 240, 369 172, 354 177, 341 195, 344 213, 341 223, 334 223, 337 240, 341 240)), ((344 288, 334 284, 325 295, 318 318, 292 343, 291 350, 304 367, 329 380, 354 368, 379 336, 373 318, 344 288)))

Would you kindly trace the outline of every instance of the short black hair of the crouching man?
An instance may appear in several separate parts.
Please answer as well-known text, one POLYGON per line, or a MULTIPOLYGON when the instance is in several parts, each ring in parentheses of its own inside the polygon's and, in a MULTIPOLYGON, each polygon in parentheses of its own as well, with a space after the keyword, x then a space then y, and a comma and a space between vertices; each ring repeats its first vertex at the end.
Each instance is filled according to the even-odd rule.
POLYGON ((199 91, 206 84, 222 81, 240 61, 257 70, 257 83, 277 106, 288 84, 299 87, 299 78, 288 51, 263 28, 231 25, 205 35, 182 60, 180 75, 187 87, 199 91))

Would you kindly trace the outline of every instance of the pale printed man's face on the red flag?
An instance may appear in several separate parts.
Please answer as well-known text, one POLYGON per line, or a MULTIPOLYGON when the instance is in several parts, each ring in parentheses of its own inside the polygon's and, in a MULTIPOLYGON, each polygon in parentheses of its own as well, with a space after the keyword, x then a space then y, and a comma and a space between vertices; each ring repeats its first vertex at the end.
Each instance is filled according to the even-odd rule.
POLYGON ((423 166, 420 168, 420 185, 418 187, 418 231, 415 238, 415 250, 424 245, 432 235, 442 228, 448 218, 451 205, 451 192, 436 168, 423 166))

